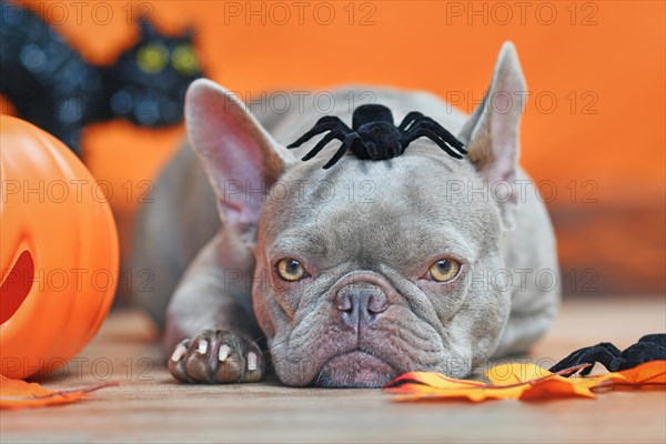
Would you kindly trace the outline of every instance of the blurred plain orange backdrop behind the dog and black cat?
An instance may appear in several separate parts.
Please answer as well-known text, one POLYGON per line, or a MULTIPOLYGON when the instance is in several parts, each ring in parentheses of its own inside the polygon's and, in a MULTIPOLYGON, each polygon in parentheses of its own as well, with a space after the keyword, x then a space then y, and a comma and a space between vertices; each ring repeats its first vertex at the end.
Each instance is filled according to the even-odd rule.
MULTIPOLYGON (((67 19, 62 8, 27 3, 97 63, 132 44, 137 29, 128 23, 130 12, 148 13, 164 32, 193 26, 208 77, 250 97, 287 88, 391 84, 443 98, 462 93, 472 100, 461 108, 471 112, 502 42, 512 40, 532 92, 522 127, 523 164, 537 181, 557 185, 552 210, 607 214, 613 209, 610 218, 618 221, 604 225, 602 220, 583 233, 573 223, 573 234, 561 236, 563 261, 577 263, 577 255, 598 249, 604 255, 630 255, 639 261, 637 272, 657 285, 652 291, 664 291, 664 1, 302 2, 301 17, 294 1, 118 1, 107 3, 113 7, 110 19, 105 10, 93 11, 93 3, 80 17, 72 6, 67 19), (548 110, 553 97, 557 104, 548 110), (588 180, 596 191, 584 183, 588 180), (583 201, 588 191, 597 203, 583 201), (649 218, 638 230, 632 225, 636 218, 626 216, 636 208, 649 218), (625 216, 617 219, 617 212, 625 216)), ((84 133, 85 163, 98 179, 118 185, 112 200, 121 228, 137 206, 121 184, 131 180, 141 191, 138 181, 152 179, 181 138, 180 128, 144 130, 120 121, 84 133)), ((123 232, 127 243, 127 226, 123 232)))

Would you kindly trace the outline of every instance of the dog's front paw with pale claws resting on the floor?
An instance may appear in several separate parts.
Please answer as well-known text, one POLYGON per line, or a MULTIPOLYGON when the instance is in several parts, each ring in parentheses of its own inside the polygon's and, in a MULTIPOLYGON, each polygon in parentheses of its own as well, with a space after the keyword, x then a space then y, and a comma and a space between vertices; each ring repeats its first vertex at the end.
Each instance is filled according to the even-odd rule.
POLYGON ((181 341, 169 359, 169 371, 188 383, 256 382, 264 361, 250 341, 226 330, 202 330, 181 341))

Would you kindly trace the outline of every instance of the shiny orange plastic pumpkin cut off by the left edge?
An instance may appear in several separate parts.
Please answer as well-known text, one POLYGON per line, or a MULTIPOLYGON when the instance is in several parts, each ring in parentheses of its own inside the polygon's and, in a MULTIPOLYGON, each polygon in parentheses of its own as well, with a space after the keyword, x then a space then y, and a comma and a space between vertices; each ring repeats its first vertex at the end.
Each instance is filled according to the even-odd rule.
POLYGON ((105 190, 59 140, 0 115, 0 373, 44 375, 105 317, 118 234, 105 190))

